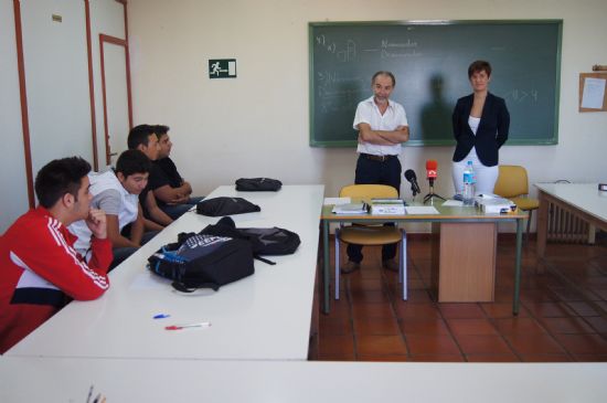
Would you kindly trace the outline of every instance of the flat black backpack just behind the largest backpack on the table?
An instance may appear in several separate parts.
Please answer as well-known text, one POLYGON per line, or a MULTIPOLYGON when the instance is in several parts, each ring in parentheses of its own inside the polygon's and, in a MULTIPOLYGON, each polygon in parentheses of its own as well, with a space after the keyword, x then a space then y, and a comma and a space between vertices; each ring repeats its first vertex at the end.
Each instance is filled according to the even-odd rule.
POLYGON ((201 234, 230 236, 248 241, 255 258, 274 265, 275 263, 260 255, 290 255, 301 243, 299 235, 277 226, 264 229, 237 229, 234 220, 224 216, 214 225, 207 225, 201 234))

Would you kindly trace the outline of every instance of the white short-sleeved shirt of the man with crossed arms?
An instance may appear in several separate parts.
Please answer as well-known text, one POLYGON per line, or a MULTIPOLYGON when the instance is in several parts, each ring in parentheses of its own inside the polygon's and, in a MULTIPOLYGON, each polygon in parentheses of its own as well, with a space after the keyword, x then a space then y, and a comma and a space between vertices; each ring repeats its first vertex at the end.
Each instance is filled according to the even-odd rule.
MULTIPOLYGON (((408 126, 405 108, 391 99, 387 100, 387 109, 382 115, 375 104, 374 97, 361 100, 354 115, 354 129, 359 129, 359 124, 369 124, 372 130, 396 130, 398 126, 408 126)), ((401 153, 401 145, 381 146, 370 142, 359 142, 358 152, 371 153, 374 156, 397 156, 401 153)))

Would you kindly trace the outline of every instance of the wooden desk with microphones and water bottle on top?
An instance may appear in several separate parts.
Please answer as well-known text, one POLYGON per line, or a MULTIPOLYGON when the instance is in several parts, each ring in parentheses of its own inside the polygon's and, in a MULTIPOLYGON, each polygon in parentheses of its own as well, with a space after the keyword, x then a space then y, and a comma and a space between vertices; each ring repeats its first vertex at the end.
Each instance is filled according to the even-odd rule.
MULTIPOLYGON (((414 204, 415 203, 411 203, 414 204)), ((419 203, 417 203, 419 204, 419 203)), ((451 245, 455 245, 451 250, 451 257, 456 256, 456 258, 460 259, 456 263, 459 264, 466 264, 466 262, 470 263, 470 253, 467 252, 467 245, 465 242, 467 240, 470 240, 470 236, 465 240, 464 237, 454 237, 454 230, 458 232, 458 229, 454 224, 459 224, 459 230, 462 230, 467 233, 471 233, 472 238, 475 237, 475 230, 480 230, 481 227, 484 229, 486 233, 493 233, 497 234, 494 225, 499 222, 515 222, 517 223, 517 256, 514 259, 514 300, 512 303, 512 311, 514 315, 519 314, 519 293, 520 293, 520 279, 521 279, 521 247, 522 247, 522 225, 523 220, 526 218, 525 213, 522 213, 520 211, 517 211, 514 213, 509 214, 483 214, 478 209, 473 208, 464 208, 464 206, 443 206, 441 202, 438 202, 435 204, 435 208, 438 210, 439 214, 405 214, 405 215, 343 215, 343 214, 333 214, 331 212, 332 205, 323 205, 322 206, 322 237, 323 237, 323 311, 328 314, 330 311, 330 296, 329 296, 329 286, 330 286, 330 261, 329 261, 329 226, 331 223, 340 223, 340 222, 369 222, 369 223, 383 223, 383 222, 428 222, 428 223, 435 223, 434 227, 444 230, 448 234, 446 235, 449 238, 449 243, 451 245), (443 225, 445 225, 444 229, 443 225), (493 225, 492 227, 487 227, 487 224, 493 225), (478 225, 478 226, 477 226, 478 225), (471 230, 470 230, 471 229, 471 230), (487 229, 489 229, 489 232, 487 232, 487 229), (464 246, 462 246, 464 245, 464 246)), ((484 242, 486 245, 487 242, 494 242, 494 237, 484 238, 479 241, 477 238, 477 242, 484 242)), ((445 244, 445 238, 443 244, 445 244)), ((434 250, 434 257, 437 257, 438 250, 434 250)), ((444 255, 446 253, 449 253, 449 251, 440 251, 440 254, 445 257, 445 262, 448 258, 448 255, 444 255)), ((491 258, 490 256, 488 258, 491 258)), ((494 257, 493 257, 494 258, 494 257)), ((484 259, 486 261, 486 259, 484 259)), ((484 264, 484 263, 482 263, 484 264)), ((473 276, 475 273, 478 272, 478 267, 480 267, 482 264, 475 264, 475 266, 466 266, 465 271, 468 272, 470 276, 473 276)), ((454 300, 454 298, 458 298, 461 300, 461 296, 466 296, 464 300, 471 300, 471 298, 478 298, 478 293, 475 291, 473 295, 470 293, 467 293, 464 290, 461 291, 461 280, 454 280, 454 278, 457 276, 458 269, 460 269, 460 265, 452 264, 450 267, 446 267, 446 272, 449 273, 450 280, 447 280, 445 284, 450 284, 451 289, 445 290, 445 297, 443 298, 444 301, 446 300, 454 300), (458 286, 459 289, 454 289, 452 286, 458 286), (455 296, 455 297, 454 297, 455 296)), ((484 283, 491 282, 492 278, 487 278, 484 283)), ((483 289, 487 289, 484 286, 483 289)), ((439 295, 440 295, 440 285, 439 285, 439 295)), ((491 297, 491 296, 490 296, 491 297)), ((489 298, 490 298, 489 297, 489 298)), ((483 297, 484 298, 484 297, 483 297)))

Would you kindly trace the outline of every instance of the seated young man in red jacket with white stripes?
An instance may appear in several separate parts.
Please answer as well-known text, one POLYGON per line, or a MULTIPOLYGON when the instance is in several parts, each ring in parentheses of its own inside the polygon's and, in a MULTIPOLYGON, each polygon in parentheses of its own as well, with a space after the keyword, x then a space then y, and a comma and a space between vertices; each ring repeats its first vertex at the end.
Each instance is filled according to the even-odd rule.
POLYGON ((111 244, 106 216, 89 208, 90 165, 53 160, 35 178, 40 205, 0 237, 0 354, 58 311, 70 298, 90 300, 109 287, 111 244), (74 251, 67 225, 84 220, 92 233, 88 263, 74 251))

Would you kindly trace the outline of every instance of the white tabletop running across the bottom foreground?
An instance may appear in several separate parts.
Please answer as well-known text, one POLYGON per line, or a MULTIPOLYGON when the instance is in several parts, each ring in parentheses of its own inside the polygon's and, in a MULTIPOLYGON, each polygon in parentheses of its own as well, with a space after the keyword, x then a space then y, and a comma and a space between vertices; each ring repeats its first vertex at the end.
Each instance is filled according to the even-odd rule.
POLYGON ((607 401, 606 363, 1 358, 1 402, 607 401))

